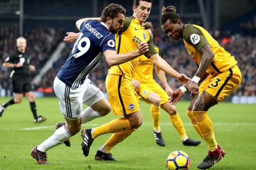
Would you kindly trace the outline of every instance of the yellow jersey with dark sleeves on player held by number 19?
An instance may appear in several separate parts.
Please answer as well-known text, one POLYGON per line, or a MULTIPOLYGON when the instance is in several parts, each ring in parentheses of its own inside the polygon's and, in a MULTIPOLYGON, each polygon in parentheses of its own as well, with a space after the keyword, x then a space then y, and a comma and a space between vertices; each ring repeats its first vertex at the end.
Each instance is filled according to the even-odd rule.
MULTIPOLYGON (((149 45, 149 51, 146 57, 157 54, 154 48, 152 36, 140 25, 140 22, 133 18, 126 18, 124 27, 116 34, 116 51, 119 54, 130 53, 138 49, 140 43, 146 42, 149 45)), ((138 65, 139 57, 123 64, 110 67, 108 74, 124 75, 125 78, 132 79, 135 67, 138 65)))

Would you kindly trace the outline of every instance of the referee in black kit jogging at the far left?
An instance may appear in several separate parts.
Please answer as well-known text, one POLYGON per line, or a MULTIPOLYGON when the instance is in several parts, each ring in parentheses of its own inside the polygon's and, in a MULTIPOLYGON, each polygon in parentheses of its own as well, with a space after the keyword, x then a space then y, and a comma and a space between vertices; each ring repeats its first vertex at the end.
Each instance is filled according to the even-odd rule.
POLYGON ((22 102, 23 94, 25 93, 30 102, 34 123, 41 123, 46 120, 46 117, 37 116, 34 92, 30 78, 28 78, 28 72, 34 71, 35 67, 29 64, 30 57, 25 53, 27 43, 24 37, 17 39, 17 47, 18 50, 16 53, 7 57, 3 63, 3 66, 6 68, 14 68, 10 77, 12 78, 12 88, 13 92, 15 92, 15 98, 0 106, 0 117, 7 106, 22 102))

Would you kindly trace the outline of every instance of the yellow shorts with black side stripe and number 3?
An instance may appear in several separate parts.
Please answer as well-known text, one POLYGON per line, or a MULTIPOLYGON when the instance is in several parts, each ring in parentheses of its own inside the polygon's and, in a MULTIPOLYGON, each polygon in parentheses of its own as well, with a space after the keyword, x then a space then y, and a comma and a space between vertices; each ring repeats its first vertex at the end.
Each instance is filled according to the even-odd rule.
POLYGON ((199 87, 199 95, 204 90, 219 103, 226 96, 232 94, 240 85, 242 75, 237 65, 232 66, 226 72, 209 75, 199 87))

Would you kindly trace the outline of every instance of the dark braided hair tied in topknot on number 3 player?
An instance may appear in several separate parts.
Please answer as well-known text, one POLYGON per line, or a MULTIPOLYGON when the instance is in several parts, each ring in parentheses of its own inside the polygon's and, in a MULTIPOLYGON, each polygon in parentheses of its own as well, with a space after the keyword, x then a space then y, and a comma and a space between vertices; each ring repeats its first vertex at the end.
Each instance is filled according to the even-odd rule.
POLYGON ((167 20, 171 20, 173 23, 176 23, 178 20, 181 21, 179 14, 176 13, 175 6, 163 7, 160 20, 161 25, 163 25, 167 20))

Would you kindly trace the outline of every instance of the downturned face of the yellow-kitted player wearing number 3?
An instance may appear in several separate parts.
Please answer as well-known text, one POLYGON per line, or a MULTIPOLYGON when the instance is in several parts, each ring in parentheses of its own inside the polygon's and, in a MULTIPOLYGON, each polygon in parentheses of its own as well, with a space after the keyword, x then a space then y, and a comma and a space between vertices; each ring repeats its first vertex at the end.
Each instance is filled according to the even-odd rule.
POLYGON ((180 23, 173 23, 170 20, 167 20, 162 25, 162 30, 168 35, 168 37, 171 37, 176 41, 182 37, 182 25, 180 25, 180 23))

